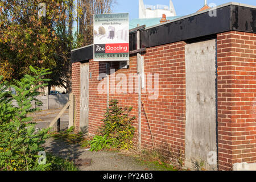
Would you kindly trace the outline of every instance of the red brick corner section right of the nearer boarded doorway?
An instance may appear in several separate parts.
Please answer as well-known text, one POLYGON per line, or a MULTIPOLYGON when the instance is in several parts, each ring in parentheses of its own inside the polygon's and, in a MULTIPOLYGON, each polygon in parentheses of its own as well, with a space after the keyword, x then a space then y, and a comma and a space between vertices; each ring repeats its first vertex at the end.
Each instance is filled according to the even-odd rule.
POLYGON ((218 165, 256 162, 256 34, 217 35, 218 165))

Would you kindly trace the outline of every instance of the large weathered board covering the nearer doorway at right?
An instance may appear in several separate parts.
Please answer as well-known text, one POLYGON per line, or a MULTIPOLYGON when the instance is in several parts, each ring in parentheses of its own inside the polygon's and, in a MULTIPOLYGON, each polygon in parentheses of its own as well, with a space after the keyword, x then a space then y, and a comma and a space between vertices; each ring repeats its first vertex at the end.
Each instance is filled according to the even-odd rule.
POLYGON ((187 44, 185 166, 217 170, 216 39, 187 44))

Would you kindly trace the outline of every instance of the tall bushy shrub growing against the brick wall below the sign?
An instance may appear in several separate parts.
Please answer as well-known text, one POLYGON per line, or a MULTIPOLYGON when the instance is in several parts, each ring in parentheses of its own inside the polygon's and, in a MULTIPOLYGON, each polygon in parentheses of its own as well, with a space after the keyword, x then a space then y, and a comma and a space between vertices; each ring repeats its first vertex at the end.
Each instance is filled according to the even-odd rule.
POLYGON ((115 148, 129 149, 133 146, 133 135, 135 128, 132 126, 135 117, 129 117, 133 107, 119 107, 117 100, 111 100, 109 108, 102 119, 104 124, 100 127, 100 134, 112 139, 115 148))

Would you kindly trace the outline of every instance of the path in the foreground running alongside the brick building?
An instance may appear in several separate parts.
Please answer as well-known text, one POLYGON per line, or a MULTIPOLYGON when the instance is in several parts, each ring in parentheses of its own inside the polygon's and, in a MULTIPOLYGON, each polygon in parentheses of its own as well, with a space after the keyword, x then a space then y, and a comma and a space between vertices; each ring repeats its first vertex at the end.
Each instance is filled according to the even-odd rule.
POLYGON ((80 166, 82 171, 146 171, 155 170, 151 165, 139 163, 131 156, 113 151, 91 152, 78 144, 67 144, 62 140, 50 138, 44 144, 47 152, 64 159, 92 159, 90 166, 80 166))

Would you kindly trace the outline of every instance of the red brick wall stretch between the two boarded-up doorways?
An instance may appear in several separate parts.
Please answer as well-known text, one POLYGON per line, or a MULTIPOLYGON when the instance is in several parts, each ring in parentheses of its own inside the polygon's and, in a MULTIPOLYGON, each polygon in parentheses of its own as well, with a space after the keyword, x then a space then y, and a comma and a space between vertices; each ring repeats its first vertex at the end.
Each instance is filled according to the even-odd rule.
MULTIPOLYGON (((151 125, 152 135, 156 147, 170 156, 175 154, 184 159, 185 150, 185 43, 178 42, 148 48, 144 56, 144 72, 159 75, 159 97, 155 100, 148 99, 148 92, 142 90, 142 147, 152 148, 152 138, 149 125, 146 119, 144 108, 147 112, 148 121, 151 125)), ((118 63, 111 63, 110 68, 115 68, 115 77, 120 76, 120 80, 115 78, 115 86, 123 78, 127 78, 127 89, 125 93, 111 93, 113 84, 110 80, 109 99, 117 99, 121 106, 133 106, 131 116, 135 116, 134 126, 138 129, 138 86, 133 80, 133 92, 129 90, 131 78, 129 74, 137 73, 137 56, 130 57, 130 68, 119 69, 118 63), (120 75, 122 73, 123 75, 120 75), (131 93, 130 93, 131 92, 131 93)), ((101 126, 101 119, 104 117, 106 109, 106 93, 98 93, 98 84, 106 81, 104 78, 98 81, 99 73, 105 72, 105 63, 98 63, 90 60, 90 72, 92 78, 89 80, 89 133, 96 134, 98 126, 101 126)), ((112 75, 113 76, 113 75, 112 75)), ((154 88, 154 75, 152 81, 154 88)), ((137 130, 138 131, 138 130, 137 130)), ((135 143, 138 142, 138 132, 135 133, 135 143)))

